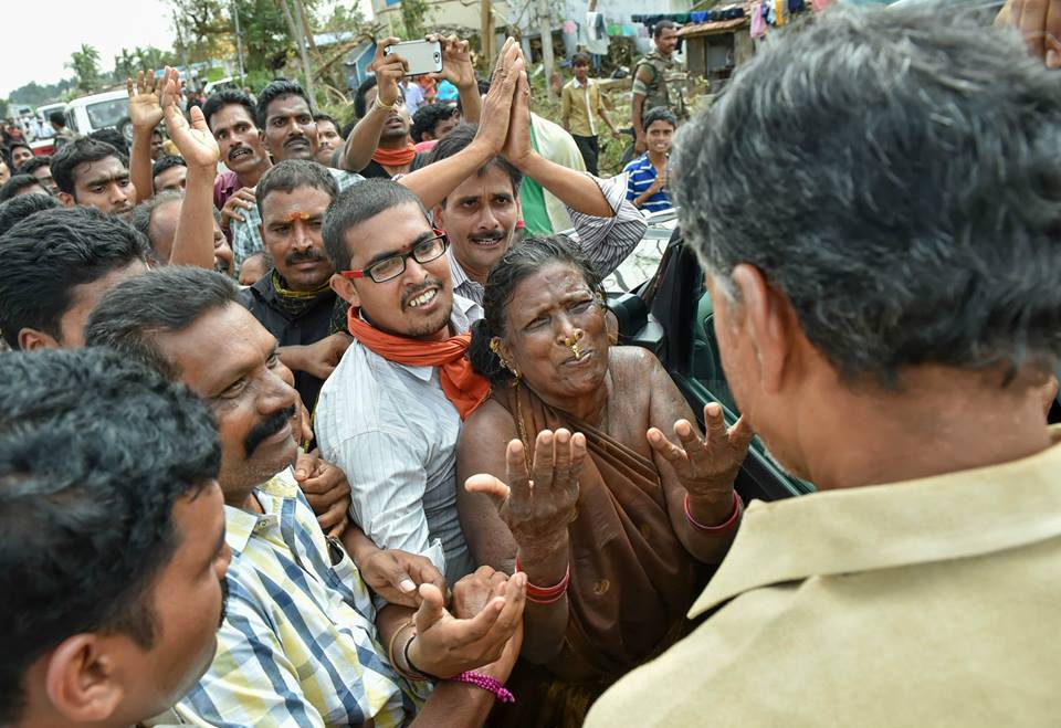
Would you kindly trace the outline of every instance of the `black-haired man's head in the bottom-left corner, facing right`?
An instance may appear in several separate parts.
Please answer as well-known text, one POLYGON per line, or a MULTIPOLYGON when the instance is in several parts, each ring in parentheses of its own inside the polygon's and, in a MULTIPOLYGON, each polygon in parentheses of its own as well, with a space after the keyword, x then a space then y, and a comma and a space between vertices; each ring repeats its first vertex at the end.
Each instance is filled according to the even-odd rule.
POLYGON ((202 676, 230 558, 220 457, 207 407, 127 357, 0 359, 0 725, 126 728, 202 676))

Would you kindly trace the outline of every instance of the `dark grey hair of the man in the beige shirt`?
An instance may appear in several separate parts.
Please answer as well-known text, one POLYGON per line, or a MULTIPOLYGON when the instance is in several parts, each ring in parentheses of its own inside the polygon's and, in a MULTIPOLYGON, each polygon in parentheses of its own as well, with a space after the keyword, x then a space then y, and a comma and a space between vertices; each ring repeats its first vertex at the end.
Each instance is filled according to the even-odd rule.
POLYGON ((705 268, 761 271, 849 382, 1061 355, 1061 74, 944 7, 778 32, 679 135, 705 268))

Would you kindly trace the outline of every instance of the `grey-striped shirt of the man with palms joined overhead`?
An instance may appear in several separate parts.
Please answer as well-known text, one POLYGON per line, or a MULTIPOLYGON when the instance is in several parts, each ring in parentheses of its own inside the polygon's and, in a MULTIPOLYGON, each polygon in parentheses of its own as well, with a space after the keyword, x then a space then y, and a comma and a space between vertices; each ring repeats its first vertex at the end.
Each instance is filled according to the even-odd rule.
MULTIPOLYGON (((597 218, 568 207, 567 212, 575 224, 575 234, 565 236, 589 260, 597 275, 605 279, 633 252, 649 226, 641 211, 627 200, 624 175, 603 179, 589 172, 585 173, 597 182, 614 214, 610 218, 597 218)), ((477 304, 476 308, 469 312, 471 320, 482 318, 484 293, 482 284, 468 277, 468 273, 453 255, 452 247, 447 255, 450 261, 450 275, 453 278, 453 293, 477 304)))

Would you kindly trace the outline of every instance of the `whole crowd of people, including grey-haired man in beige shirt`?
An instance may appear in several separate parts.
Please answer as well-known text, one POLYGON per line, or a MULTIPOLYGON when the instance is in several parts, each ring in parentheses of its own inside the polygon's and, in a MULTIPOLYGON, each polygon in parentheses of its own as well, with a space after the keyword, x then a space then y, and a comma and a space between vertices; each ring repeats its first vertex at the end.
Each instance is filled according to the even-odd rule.
POLYGON ((22 159, 0 724, 1054 721, 1061 0, 942 7, 830 8, 692 114, 660 22, 614 178, 587 57, 556 124, 455 36, 381 40, 351 124, 167 68, 127 149, 22 159), (728 425, 601 286, 672 201, 728 425), (755 434, 818 493, 745 504, 755 434))

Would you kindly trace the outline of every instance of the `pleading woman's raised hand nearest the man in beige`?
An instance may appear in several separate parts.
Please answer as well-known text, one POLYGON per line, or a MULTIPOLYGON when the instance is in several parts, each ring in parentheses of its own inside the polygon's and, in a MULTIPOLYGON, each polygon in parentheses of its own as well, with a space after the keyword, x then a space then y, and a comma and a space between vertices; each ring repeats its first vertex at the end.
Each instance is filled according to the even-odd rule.
POLYGON ((674 467, 690 497, 721 496, 733 492, 733 481, 748 454, 755 433, 742 416, 726 430, 722 407, 712 402, 704 407, 707 439, 701 440, 689 420, 674 423, 675 445, 660 430, 651 428, 649 444, 674 467))

